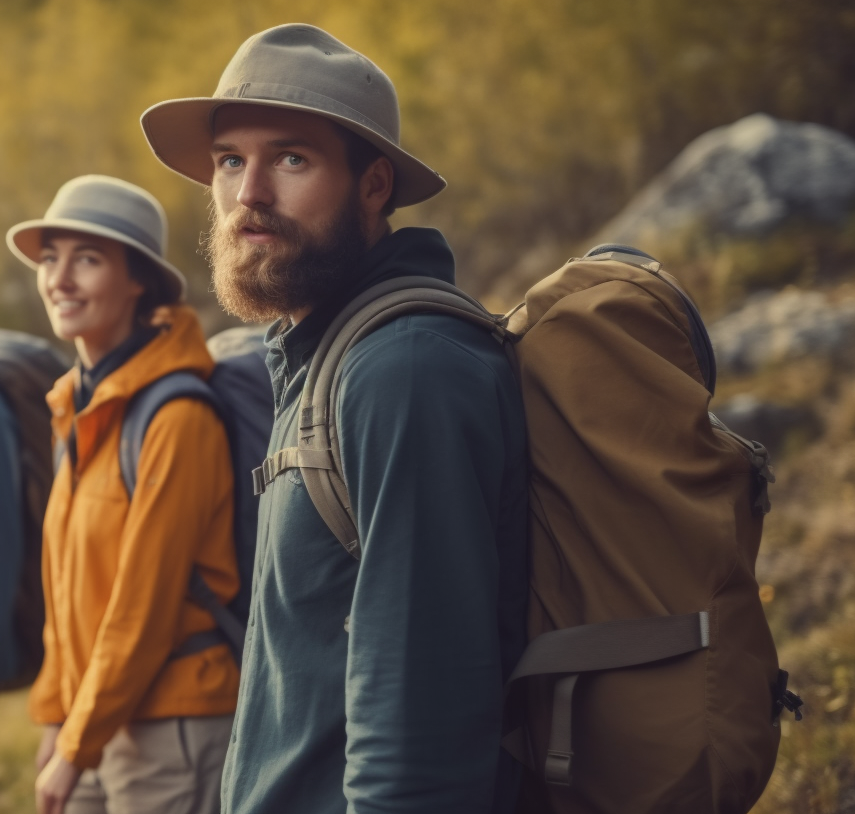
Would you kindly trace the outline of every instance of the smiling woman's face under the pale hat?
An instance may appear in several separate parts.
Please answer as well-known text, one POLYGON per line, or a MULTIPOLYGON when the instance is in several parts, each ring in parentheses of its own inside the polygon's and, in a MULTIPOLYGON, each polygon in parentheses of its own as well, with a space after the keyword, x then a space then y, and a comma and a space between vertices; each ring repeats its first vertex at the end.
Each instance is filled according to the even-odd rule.
POLYGON ((44 233, 38 286, 54 333, 74 340, 87 367, 131 335, 144 291, 121 243, 58 230, 44 233))

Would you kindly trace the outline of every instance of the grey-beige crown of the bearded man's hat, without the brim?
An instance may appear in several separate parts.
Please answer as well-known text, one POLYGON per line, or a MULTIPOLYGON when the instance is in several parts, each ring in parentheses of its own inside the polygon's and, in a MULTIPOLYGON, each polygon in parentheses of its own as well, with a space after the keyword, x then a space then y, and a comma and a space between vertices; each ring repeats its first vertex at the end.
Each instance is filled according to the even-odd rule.
POLYGON ((214 98, 304 105, 400 145, 398 97, 389 77, 315 26, 290 23, 250 37, 223 72, 214 98))

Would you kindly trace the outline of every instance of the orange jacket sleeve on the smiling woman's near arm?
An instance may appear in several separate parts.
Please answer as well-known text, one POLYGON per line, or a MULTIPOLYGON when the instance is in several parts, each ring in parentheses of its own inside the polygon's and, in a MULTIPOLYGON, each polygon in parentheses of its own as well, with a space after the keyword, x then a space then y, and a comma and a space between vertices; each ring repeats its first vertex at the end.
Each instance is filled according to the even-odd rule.
POLYGON ((107 610, 57 740, 78 768, 98 765, 163 668, 194 559, 206 535, 231 530, 232 500, 228 441, 213 410, 188 399, 162 407, 143 442, 107 610))

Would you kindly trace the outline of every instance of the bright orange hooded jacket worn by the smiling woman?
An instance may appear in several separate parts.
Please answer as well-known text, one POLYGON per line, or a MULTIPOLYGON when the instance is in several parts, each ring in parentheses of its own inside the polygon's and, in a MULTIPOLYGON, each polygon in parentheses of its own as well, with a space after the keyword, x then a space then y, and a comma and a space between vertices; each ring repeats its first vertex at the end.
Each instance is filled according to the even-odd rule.
POLYGON ((169 660, 190 634, 214 627, 188 599, 192 565, 222 601, 238 588, 221 422, 201 402, 170 402, 146 433, 132 501, 119 471, 130 397, 171 371, 207 378, 213 369, 190 308, 159 309, 156 321, 162 333, 108 375, 78 415, 76 369, 47 397, 58 438, 76 424, 78 460, 72 472, 64 456, 45 516, 45 660, 30 713, 62 723, 57 749, 81 769, 97 766, 131 720, 224 715, 237 701, 226 645, 169 660))

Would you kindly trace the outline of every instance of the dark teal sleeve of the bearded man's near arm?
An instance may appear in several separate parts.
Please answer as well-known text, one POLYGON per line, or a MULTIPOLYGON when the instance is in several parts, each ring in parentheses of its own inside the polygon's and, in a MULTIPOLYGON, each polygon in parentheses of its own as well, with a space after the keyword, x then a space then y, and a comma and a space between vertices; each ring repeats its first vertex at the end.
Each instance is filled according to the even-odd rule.
POLYGON ((507 419, 494 368, 409 322, 351 352, 337 405, 363 548, 344 793, 349 814, 477 814, 499 759, 507 419))

